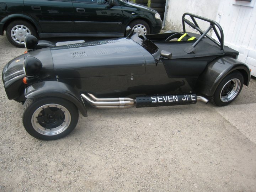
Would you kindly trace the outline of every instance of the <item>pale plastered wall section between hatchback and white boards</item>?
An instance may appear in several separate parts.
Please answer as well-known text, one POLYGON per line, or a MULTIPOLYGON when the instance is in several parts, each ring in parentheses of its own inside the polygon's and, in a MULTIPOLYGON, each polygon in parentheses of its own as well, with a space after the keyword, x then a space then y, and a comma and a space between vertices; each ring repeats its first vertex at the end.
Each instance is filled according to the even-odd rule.
MULTIPOLYGON (((181 18, 185 12, 190 12, 215 20, 220 0, 169 0, 166 16, 165 30, 182 31, 181 18)), ((198 22, 200 28, 205 30, 208 23, 198 22)), ((192 32, 192 28, 186 25, 186 30, 192 32)))

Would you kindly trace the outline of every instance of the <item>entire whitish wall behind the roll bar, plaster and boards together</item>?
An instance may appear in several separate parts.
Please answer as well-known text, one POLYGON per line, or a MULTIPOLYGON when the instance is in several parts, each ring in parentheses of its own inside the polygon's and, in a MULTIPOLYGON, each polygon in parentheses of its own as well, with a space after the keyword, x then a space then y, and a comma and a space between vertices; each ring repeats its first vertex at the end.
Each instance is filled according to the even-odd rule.
MULTIPOLYGON (((239 51, 238 59, 246 63, 256 76, 256 0, 169 0, 165 30, 182 29, 182 15, 190 12, 220 23, 224 45, 239 51)), ((198 22, 202 30, 209 24, 198 22)), ((194 32, 186 25, 186 31, 194 32)), ((213 34, 213 37, 217 37, 213 34)))

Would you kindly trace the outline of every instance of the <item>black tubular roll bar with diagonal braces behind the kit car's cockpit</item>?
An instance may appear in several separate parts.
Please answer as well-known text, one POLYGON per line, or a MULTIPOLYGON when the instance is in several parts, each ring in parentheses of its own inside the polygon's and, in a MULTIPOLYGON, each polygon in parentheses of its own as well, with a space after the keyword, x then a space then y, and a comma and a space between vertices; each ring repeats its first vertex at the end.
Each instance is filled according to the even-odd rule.
POLYGON ((212 42, 214 42, 215 44, 217 44, 220 47, 220 50, 224 50, 224 34, 223 34, 223 30, 222 27, 219 25, 219 23, 217 23, 216 21, 210 20, 208 18, 204 18, 198 15, 194 15, 191 13, 185 13, 182 16, 182 26, 183 26, 183 32, 186 32, 186 27, 185 27, 185 23, 187 23, 189 26, 191 26, 192 28, 194 28, 195 30, 197 30, 201 36, 197 39, 196 42, 194 42, 194 44, 192 46, 189 46, 187 48, 184 49, 184 51, 186 53, 191 53, 193 52, 194 48, 196 47, 196 45, 199 43, 199 41, 202 40, 202 38, 207 37, 208 39, 210 39, 212 42), (191 20, 193 21, 193 23, 189 20, 187 20, 185 18, 185 16, 190 16, 191 20), (198 26, 195 18, 198 18, 199 20, 203 20, 203 21, 207 21, 210 23, 210 26, 207 28, 206 31, 201 30, 201 28, 198 26), (217 28, 219 29, 219 32, 217 31, 217 28), (215 39, 213 39, 212 37, 210 37, 207 33, 213 29, 214 33, 216 34, 218 41, 216 41, 215 39))

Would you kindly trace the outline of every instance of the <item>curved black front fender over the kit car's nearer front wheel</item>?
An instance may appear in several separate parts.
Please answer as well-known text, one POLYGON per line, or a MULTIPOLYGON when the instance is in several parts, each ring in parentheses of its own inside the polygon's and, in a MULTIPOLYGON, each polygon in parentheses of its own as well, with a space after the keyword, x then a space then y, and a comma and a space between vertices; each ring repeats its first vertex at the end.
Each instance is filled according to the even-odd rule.
POLYGON ((33 84, 25 89, 25 97, 28 99, 39 97, 61 97, 74 103, 81 114, 84 117, 87 117, 87 111, 81 96, 73 87, 63 82, 44 81, 33 84))

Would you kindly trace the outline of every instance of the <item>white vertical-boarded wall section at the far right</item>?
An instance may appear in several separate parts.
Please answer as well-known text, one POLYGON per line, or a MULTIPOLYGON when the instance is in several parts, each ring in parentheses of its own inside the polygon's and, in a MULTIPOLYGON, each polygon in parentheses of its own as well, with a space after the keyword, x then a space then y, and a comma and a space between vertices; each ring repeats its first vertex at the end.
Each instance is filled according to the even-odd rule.
POLYGON ((238 59, 256 76, 256 0, 220 1, 215 21, 223 28, 224 44, 238 50, 238 59))

